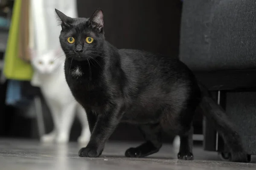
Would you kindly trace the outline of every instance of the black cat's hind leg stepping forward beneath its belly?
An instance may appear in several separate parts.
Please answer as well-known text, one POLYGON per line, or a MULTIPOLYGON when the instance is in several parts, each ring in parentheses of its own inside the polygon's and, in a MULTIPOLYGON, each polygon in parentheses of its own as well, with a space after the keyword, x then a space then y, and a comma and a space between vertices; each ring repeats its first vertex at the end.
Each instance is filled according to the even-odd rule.
POLYGON ((160 124, 140 125, 139 128, 146 142, 138 147, 132 147, 126 150, 126 157, 145 157, 157 153, 162 147, 162 130, 160 124))

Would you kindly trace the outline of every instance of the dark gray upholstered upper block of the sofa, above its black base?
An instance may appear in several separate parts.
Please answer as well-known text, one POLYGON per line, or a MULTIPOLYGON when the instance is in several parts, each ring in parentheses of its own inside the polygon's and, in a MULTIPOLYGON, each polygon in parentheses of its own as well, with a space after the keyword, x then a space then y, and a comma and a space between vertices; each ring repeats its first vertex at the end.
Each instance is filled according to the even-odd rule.
POLYGON ((255 0, 185 0, 180 60, 194 71, 256 69, 255 0))

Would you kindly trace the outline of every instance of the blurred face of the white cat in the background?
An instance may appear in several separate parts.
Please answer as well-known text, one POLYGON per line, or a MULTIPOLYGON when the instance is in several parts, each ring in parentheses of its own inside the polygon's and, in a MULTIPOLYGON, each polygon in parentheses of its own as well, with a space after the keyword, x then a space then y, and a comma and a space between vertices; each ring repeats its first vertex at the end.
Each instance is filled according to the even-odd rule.
POLYGON ((55 51, 32 57, 33 67, 41 74, 51 74, 58 71, 61 64, 64 64, 63 62, 63 57, 60 57, 60 54, 58 55, 55 51))

